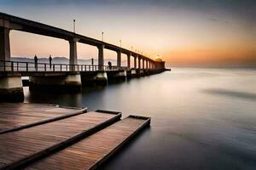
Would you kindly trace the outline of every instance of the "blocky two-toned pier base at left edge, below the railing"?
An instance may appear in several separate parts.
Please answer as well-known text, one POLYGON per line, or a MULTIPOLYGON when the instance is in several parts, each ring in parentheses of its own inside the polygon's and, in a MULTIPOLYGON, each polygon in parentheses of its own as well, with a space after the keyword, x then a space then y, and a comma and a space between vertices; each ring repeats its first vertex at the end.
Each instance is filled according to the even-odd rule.
POLYGON ((21 75, 0 77, 0 102, 22 102, 24 100, 21 75))

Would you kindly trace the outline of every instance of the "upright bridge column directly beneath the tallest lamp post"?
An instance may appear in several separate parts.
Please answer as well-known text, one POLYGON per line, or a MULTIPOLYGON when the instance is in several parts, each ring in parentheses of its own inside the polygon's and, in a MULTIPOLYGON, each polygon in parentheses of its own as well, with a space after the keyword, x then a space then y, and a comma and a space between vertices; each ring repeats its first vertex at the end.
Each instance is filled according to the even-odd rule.
MULTIPOLYGON (((78 38, 69 40, 69 65, 78 65, 77 42, 78 38)), ((75 66, 72 66, 71 71, 75 71, 75 66)))

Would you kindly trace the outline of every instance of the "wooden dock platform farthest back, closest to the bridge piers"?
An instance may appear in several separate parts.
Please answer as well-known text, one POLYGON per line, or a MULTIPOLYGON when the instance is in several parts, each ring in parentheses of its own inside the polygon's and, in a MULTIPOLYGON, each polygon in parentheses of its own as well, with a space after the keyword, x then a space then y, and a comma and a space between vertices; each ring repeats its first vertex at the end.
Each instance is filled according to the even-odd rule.
POLYGON ((0 103, 0 134, 83 113, 86 108, 46 104, 0 103))

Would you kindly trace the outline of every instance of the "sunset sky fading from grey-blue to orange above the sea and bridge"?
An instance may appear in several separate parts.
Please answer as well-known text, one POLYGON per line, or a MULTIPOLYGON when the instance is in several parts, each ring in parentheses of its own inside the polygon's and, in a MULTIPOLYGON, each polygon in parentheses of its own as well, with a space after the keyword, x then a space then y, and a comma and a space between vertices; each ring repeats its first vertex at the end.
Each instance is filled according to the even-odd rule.
MULTIPOLYGON (((0 11, 139 50, 167 65, 256 67, 255 0, 0 0, 0 11)), ((68 42, 10 33, 12 56, 66 56, 68 42)), ((97 49, 78 45, 79 59, 97 49)), ((116 54, 105 50, 105 58, 116 54)), ((124 57, 125 58, 125 57, 124 57)))

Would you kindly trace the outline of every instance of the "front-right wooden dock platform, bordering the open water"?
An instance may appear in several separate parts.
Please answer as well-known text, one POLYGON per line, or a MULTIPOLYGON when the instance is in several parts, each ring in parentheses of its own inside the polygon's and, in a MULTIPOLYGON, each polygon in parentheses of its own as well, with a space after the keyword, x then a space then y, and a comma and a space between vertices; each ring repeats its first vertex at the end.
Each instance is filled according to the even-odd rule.
POLYGON ((25 169, 95 169, 149 123, 150 118, 148 117, 128 116, 66 149, 34 162, 25 169))

